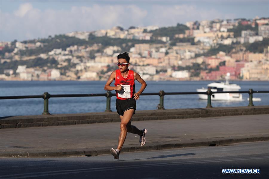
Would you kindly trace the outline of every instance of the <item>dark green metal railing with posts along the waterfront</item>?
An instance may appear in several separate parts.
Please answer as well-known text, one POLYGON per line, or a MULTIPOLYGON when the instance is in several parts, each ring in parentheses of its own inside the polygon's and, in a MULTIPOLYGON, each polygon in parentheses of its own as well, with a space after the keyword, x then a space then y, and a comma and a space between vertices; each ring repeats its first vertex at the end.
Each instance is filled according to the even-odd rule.
MULTIPOLYGON (((249 89, 248 91, 211 91, 207 89, 206 92, 164 92, 161 90, 159 93, 142 93, 142 96, 146 95, 159 95, 160 103, 158 104, 158 109, 164 109, 163 101, 164 95, 181 95, 181 94, 206 94, 207 95, 207 108, 212 108, 211 105, 211 96, 212 94, 220 94, 220 93, 248 93, 249 94, 249 104, 248 106, 253 105, 253 93, 269 93, 269 91, 253 91, 253 89, 249 89)), ((49 94, 45 92, 43 95, 32 95, 32 96, 1 96, 0 100, 8 100, 8 99, 25 99, 25 98, 43 98, 44 99, 44 111, 42 114, 50 114, 48 110, 48 99, 52 97, 94 97, 94 96, 105 96, 106 97, 106 112, 111 112, 110 103, 111 97, 116 96, 116 94, 107 91, 106 93, 99 94, 49 94)))

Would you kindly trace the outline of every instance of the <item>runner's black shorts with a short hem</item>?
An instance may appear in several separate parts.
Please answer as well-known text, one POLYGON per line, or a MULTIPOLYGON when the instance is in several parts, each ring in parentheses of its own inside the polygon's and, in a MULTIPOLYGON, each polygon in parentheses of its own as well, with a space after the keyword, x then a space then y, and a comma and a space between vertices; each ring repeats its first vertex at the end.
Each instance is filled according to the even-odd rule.
MULTIPOLYGON (((134 109, 136 110, 136 101, 134 98, 130 98, 127 100, 116 100, 116 109, 117 113, 120 116, 123 116, 124 111, 127 111, 128 109, 134 109)), ((135 111, 134 111, 135 114, 135 111)))

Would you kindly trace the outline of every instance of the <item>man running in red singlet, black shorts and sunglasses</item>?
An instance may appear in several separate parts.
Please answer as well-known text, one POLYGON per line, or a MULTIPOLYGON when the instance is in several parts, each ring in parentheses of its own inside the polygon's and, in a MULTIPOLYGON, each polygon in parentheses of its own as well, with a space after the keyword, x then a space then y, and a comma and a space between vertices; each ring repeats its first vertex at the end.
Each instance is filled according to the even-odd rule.
POLYGON ((110 153, 114 156, 114 159, 120 159, 120 150, 126 139, 127 132, 138 134, 140 136, 139 142, 141 146, 146 143, 145 135, 147 133, 146 129, 139 130, 131 124, 131 118, 136 110, 135 100, 139 99, 140 94, 144 91, 147 84, 138 73, 128 69, 130 66, 130 57, 127 52, 120 53, 117 58, 119 69, 111 73, 104 88, 107 91, 116 90, 116 109, 121 120, 120 137, 117 149, 110 149, 110 153), (135 79, 142 85, 137 93, 135 92, 135 79), (111 82, 114 80, 115 87, 110 86, 111 82))

